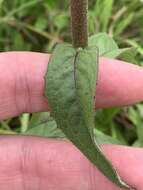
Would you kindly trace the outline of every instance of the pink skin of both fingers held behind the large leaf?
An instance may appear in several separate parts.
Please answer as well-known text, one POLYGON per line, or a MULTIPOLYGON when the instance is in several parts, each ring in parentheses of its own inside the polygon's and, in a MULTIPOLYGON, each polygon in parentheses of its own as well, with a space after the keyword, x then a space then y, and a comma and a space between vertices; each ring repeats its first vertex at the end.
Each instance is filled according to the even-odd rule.
MULTIPOLYGON (((49 55, 0 53, 0 119, 50 111, 44 97, 49 55)), ((100 58, 96 108, 143 100, 143 68, 100 58)), ((107 126, 108 127, 108 126, 107 126)), ((143 189, 141 148, 102 145, 121 177, 143 189)), ((2 190, 119 190, 69 142, 39 137, 0 137, 2 190)))

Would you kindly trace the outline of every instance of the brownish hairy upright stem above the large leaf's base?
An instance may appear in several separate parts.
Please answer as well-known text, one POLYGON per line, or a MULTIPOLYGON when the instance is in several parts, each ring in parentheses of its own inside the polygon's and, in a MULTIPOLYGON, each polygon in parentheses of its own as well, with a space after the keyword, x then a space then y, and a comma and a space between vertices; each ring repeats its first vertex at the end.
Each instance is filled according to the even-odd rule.
POLYGON ((72 40, 75 48, 88 45, 88 0, 71 0, 72 40))

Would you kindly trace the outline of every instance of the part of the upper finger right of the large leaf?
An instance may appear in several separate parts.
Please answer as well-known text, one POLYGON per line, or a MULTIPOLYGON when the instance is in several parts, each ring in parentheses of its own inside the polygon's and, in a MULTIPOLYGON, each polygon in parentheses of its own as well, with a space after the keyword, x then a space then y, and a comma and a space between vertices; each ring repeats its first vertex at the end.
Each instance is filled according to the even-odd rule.
POLYGON ((97 107, 117 107, 143 100, 143 68, 123 61, 101 58, 97 107))

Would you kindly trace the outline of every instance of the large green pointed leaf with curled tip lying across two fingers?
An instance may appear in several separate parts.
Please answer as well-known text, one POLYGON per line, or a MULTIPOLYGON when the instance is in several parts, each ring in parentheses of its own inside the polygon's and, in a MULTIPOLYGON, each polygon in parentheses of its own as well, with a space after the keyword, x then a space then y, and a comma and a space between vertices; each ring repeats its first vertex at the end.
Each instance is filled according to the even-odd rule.
POLYGON ((94 137, 98 51, 56 47, 48 64, 45 95, 57 126, 112 182, 129 189, 102 153, 94 137))

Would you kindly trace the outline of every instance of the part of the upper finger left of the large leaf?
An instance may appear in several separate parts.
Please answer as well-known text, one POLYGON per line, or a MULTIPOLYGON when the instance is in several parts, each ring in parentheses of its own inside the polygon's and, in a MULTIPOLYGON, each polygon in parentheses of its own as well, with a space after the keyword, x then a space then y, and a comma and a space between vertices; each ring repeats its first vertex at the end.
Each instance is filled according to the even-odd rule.
POLYGON ((47 110, 44 76, 49 55, 0 53, 0 119, 47 110))

